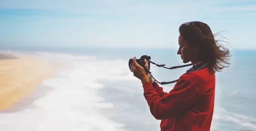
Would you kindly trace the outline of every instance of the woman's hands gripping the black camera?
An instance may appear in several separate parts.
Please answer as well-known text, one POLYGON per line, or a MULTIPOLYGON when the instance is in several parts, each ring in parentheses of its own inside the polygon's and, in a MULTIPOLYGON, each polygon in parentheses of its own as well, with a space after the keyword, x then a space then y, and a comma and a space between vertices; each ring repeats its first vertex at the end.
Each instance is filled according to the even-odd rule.
MULTIPOLYGON (((136 57, 133 58, 132 64, 129 66, 131 72, 134 73, 134 76, 141 80, 142 84, 145 84, 146 82, 149 82, 149 78, 151 78, 151 75, 149 75, 148 72, 145 71, 145 69, 137 63, 135 60, 136 57)), ((145 67, 148 69, 148 61, 144 59, 145 61, 145 67)), ((151 80, 151 83, 153 83, 154 80, 151 80)))

